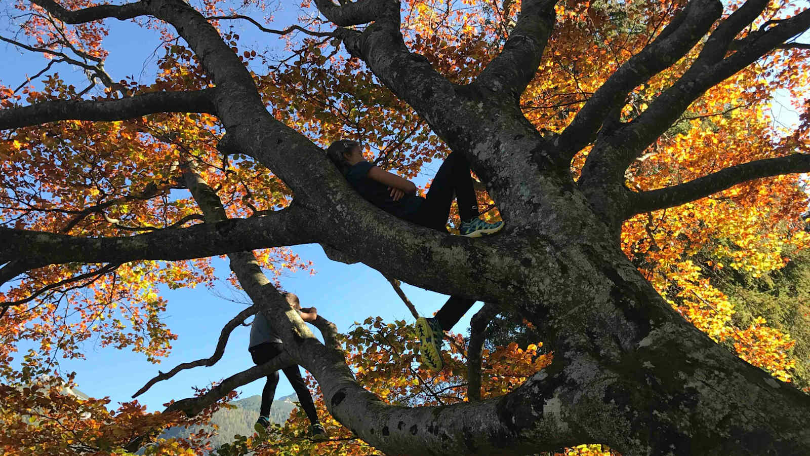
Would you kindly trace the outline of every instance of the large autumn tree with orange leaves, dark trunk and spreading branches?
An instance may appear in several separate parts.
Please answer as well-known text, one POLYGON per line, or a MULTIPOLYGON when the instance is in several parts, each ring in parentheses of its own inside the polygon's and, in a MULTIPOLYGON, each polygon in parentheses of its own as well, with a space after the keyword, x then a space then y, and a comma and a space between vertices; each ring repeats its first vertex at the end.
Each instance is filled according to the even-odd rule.
MULTIPOLYGON (((0 86, 4 450, 193 453, 206 432, 160 429, 207 423, 234 388, 301 364, 353 442, 309 450, 804 453, 807 352, 790 333, 807 318, 791 264, 810 244, 804 2, 314 0, 280 30, 268 6, 14 3, 0 39, 44 60, 0 86), (160 37, 148 84, 104 67, 113 19, 160 37), (794 126, 771 110, 786 93, 794 126), (342 138, 411 179, 463 154, 505 230, 465 239, 374 208, 323 153, 342 138), (341 334, 321 317, 314 338, 279 293, 282 270, 309 268, 288 249, 304 243, 487 304, 425 381, 402 321, 341 334), (256 312, 283 355, 163 413, 60 393, 56 355, 91 338, 166 355, 178 335, 160 286, 215 286, 215 256, 252 305, 210 358, 137 394, 215 364, 256 312), (782 277, 778 303, 761 295, 782 277), (18 368, 23 342, 38 350, 18 368), (610 450, 574 448, 592 443, 610 450)), ((257 450, 279 448, 298 451, 257 450)))

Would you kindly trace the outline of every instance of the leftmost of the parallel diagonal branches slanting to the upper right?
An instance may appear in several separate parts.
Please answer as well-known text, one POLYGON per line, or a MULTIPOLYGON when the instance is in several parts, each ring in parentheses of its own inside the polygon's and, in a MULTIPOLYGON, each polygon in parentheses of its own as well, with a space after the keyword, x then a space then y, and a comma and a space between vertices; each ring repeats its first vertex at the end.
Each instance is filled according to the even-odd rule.
POLYGON ((688 53, 722 13, 723 6, 717 0, 689 2, 654 41, 623 63, 599 87, 569 126, 565 127, 558 143, 564 157, 570 160, 586 144, 595 140, 608 114, 625 104, 627 94, 688 53))

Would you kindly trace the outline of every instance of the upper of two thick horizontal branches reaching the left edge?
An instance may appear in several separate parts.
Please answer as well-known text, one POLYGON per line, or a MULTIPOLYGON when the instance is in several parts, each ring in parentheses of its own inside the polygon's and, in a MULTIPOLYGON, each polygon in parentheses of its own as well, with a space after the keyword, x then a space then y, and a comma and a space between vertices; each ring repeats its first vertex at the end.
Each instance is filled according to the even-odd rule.
POLYGON ((215 89, 192 92, 150 92, 108 100, 42 101, 0 110, 0 130, 58 120, 114 121, 156 113, 216 114, 211 103, 215 89))

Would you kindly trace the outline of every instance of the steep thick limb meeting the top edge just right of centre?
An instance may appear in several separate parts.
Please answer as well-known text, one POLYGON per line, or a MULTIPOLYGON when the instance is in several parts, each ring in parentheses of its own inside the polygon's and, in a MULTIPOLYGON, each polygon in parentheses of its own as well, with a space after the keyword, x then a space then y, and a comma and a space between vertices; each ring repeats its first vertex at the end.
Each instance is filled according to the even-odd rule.
POLYGON ((535 77, 543 50, 554 27, 557 0, 525 0, 518 22, 501 54, 489 62, 478 76, 478 84, 497 93, 509 93, 519 99, 535 77))

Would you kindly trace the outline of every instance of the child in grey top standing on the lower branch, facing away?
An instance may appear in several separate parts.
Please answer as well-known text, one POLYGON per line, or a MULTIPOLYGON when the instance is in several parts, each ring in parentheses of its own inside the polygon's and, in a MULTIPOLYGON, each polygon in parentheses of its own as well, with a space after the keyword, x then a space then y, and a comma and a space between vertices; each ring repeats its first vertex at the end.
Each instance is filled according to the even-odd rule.
MULTIPOLYGON (((287 299, 290 306, 298 311, 301 315, 301 320, 314 321, 318 318, 318 309, 301 308, 298 296, 292 293, 285 293, 284 299, 287 299)), ((281 339, 273 332, 270 323, 267 322, 262 312, 256 314, 253 323, 250 325, 250 344, 248 351, 250 352, 250 356, 253 357, 255 364, 265 364, 284 351, 281 339)), ((309 389, 307 389, 304 379, 301 378, 301 371, 298 370, 298 366, 294 365, 281 370, 284 372, 284 375, 287 376, 287 380, 290 381, 292 389, 295 389, 298 395, 298 402, 301 403, 301 409, 304 410, 309 418, 309 423, 311 424, 309 429, 313 439, 325 440, 326 431, 323 429, 321 423, 318 422, 318 414, 315 412, 315 404, 313 403, 312 395, 309 394, 309 389)), ((256 424, 254 424, 256 432, 258 432, 261 437, 266 437, 267 427, 270 426, 270 407, 273 404, 275 387, 278 384, 279 371, 275 371, 267 376, 267 382, 264 384, 264 389, 262 389, 262 407, 259 410, 259 417, 256 420, 256 424)))

